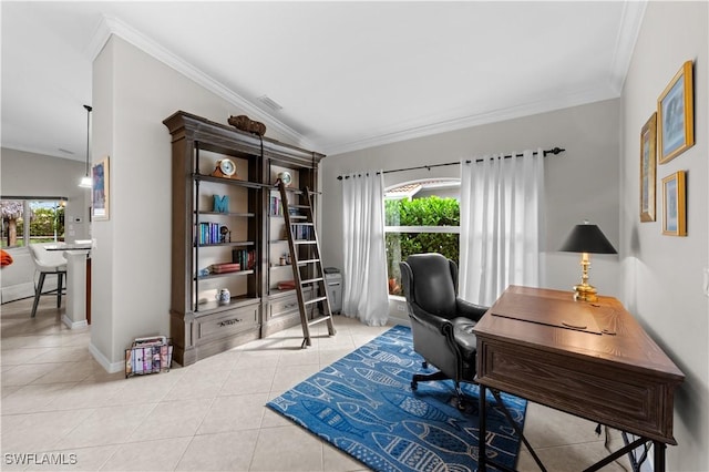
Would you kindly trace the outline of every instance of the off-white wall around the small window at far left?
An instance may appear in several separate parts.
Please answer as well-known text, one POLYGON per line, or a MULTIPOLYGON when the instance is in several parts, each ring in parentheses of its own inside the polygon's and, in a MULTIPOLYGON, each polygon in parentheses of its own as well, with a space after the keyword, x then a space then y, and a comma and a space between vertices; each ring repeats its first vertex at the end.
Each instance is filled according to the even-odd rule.
MULTIPOLYGON (((65 237, 68 242, 85 239, 90 234, 89 192, 79 187, 79 181, 85 173, 85 163, 2 148, 0 166, 0 194, 3 196, 63 196, 65 237), (81 218, 81 223, 74 219, 81 218)), ((3 267, 2 302, 31 297, 34 295, 34 265, 25 247, 8 249, 13 263, 3 267)), ((48 278, 52 287, 55 277, 48 278), (50 280, 51 279, 51 280, 50 280)))

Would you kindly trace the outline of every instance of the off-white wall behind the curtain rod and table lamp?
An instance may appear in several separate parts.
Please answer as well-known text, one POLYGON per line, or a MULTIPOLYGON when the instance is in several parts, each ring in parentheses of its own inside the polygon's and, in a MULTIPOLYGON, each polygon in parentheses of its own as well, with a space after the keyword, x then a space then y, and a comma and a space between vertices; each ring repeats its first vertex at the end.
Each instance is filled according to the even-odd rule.
MULTIPOLYGON (((341 182, 338 175, 383 168, 460 162, 496 152, 566 150, 545 161, 546 237, 542 285, 571 289, 580 281, 579 256, 557 248, 572 227, 588 218, 618 245, 619 101, 609 100, 450 133, 403 141, 322 161, 321 240, 327 266, 342 267, 341 182)), ((460 177, 459 166, 386 174, 390 186, 429 177, 460 177)), ((619 295, 617 256, 593 256, 590 283, 599 293, 619 295)), ((394 310, 395 311, 395 310, 394 310)))

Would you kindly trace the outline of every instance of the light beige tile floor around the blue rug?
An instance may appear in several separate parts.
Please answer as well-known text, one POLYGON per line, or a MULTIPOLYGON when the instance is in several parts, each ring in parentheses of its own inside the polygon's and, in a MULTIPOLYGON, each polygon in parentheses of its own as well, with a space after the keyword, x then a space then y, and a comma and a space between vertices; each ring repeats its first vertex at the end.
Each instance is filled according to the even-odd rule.
MULTIPOLYGON (((264 404, 388 327, 338 316, 337 336, 317 327, 305 350, 295 327, 193 366, 125 379, 93 360, 90 328, 68 329, 52 297, 35 319, 31 304, 0 307, 2 470, 367 470, 264 404), (23 453, 60 463, 22 465, 23 453)), ((525 434, 549 471, 582 470, 605 455, 594 429, 537 404, 527 410, 525 434)), ((625 458, 620 464, 606 470, 630 469, 625 458)), ((524 447, 518 469, 537 470, 524 447)))

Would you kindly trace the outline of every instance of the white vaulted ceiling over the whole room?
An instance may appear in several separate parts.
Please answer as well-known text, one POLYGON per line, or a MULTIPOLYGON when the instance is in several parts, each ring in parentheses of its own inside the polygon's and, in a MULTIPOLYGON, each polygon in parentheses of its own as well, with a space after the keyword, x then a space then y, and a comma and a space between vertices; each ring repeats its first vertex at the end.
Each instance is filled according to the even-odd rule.
POLYGON ((92 61, 110 34, 215 91, 235 114, 331 155, 617 98, 645 2, 0 8, 2 146, 82 161, 92 61))

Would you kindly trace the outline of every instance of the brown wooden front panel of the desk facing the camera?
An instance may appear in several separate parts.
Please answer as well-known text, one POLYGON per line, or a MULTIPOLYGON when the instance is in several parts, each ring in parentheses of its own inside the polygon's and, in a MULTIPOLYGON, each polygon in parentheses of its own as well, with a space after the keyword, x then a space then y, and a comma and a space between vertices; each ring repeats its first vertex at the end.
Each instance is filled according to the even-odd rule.
POLYGON ((499 389, 572 414, 675 444, 675 384, 602 361, 477 336, 477 378, 499 389))

